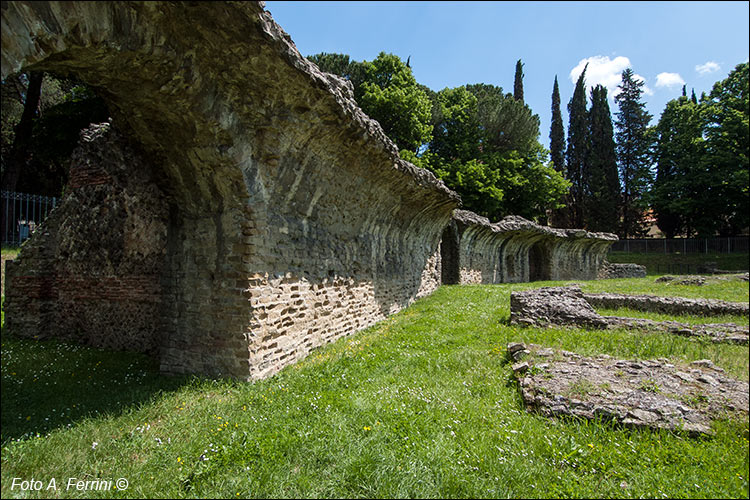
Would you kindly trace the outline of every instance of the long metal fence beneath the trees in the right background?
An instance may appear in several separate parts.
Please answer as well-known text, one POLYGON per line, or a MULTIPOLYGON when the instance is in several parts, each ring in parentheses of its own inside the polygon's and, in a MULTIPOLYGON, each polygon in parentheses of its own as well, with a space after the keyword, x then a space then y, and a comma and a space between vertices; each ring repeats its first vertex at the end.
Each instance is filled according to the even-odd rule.
POLYGON ((610 250, 626 253, 748 253, 748 240, 748 236, 620 240, 610 250))

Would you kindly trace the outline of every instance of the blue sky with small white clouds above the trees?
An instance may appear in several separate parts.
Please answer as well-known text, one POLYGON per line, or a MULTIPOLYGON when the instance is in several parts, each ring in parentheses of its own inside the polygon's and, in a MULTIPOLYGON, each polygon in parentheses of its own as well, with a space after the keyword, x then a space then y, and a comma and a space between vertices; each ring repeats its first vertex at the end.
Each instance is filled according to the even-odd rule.
POLYGON ((406 61, 433 90, 467 83, 513 92, 518 59, 524 97, 549 145, 552 85, 567 103, 586 61, 586 83, 609 88, 631 67, 645 81, 643 97, 659 119, 670 99, 710 92, 748 60, 748 2, 289 2, 266 9, 302 55, 339 52, 371 61, 381 51, 406 61))

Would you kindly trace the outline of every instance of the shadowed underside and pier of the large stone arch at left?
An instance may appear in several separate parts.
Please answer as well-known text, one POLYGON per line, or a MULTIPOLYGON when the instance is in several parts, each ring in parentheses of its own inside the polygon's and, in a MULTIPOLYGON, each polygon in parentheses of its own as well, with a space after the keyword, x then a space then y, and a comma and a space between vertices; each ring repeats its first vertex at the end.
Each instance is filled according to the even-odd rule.
MULTIPOLYGON (((157 277, 109 265, 88 270, 78 281, 88 280, 105 296, 122 283, 140 293, 159 288, 160 338, 146 342, 144 350, 158 351, 164 371, 246 372, 246 349, 240 346, 248 311, 242 310, 237 278, 247 274, 241 243, 248 194, 232 155, 233 138, 222 123, 227 109, 218 103, 209 108, 206 98, 218 93, 218 85, 194 64, 202 55, 190 47, 190 35, 174 30, 195 21, 205 7, 19 2, 2 9, 3 75, 21 69, 73 74, 95 88, 116 126, 143 152, 129 175, 147 176, 166 200, 165 255, 157 277)), ((75 278, 58 270, 43 279, 59 289, 75 278)), ((81 318, 72 324, 95 328, 81 318)), ((111 342, 117 345, 112 339, 99 343, 111 342)))

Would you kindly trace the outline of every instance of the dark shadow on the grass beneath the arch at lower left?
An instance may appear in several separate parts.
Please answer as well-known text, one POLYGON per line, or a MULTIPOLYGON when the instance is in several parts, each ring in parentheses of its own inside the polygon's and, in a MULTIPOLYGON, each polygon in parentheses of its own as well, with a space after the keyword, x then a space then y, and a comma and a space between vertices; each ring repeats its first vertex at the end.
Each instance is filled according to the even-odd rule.
POLYGON ((86 418, 117 416, 196 381, 161 375, 148 356, 2 331, 2 443, 86 418))

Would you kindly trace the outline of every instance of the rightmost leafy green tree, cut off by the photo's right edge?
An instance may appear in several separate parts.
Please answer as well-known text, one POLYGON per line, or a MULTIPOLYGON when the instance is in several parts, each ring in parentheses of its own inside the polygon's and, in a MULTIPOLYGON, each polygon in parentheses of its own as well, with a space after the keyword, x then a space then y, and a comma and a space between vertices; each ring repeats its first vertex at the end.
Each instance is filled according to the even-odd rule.
POLYGON ((739 234, 750 225, 748 67, 748 63, 738 64, 701 102, 706 170, 712 179, 703 191, 711 210, 704 223, 696 224, 701 235, 739 234))

